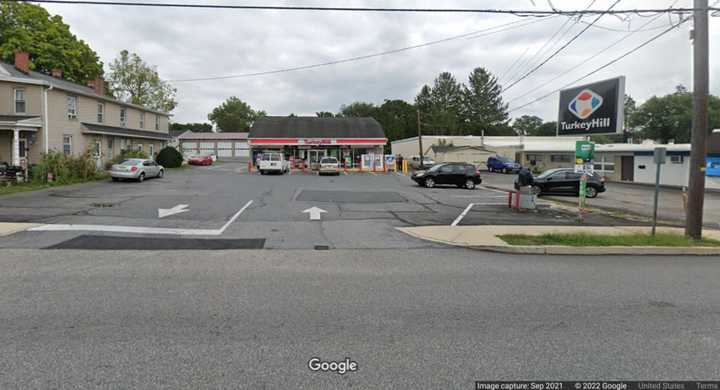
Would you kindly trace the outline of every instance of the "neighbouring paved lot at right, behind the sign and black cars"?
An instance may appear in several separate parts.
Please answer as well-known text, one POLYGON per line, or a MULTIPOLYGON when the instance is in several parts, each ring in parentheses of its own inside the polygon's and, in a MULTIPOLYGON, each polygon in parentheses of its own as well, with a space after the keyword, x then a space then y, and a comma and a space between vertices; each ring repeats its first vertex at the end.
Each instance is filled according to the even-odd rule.
MULTIPOLYGON (((511 189, 516 175, 502 173, 485 173, 485 183, 511 189)), ((590 207, 600 207, 652 217, 652 204, 655 188, 628 183, 607 183, 608 190, 595 199, 588 199, 590 207)), ((573 196, 545 196, 544 199, 576 202, 573 196)), ((685 223, 685 210, 683 208, 682 191, 672 188, 663 188, 660 192, 658 217, 667 221, 685 223)), ((704 207, 705 225, 720 228, 720 194, 707 192, 704 207)))

